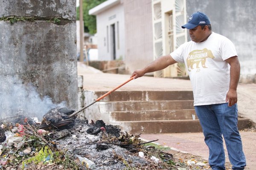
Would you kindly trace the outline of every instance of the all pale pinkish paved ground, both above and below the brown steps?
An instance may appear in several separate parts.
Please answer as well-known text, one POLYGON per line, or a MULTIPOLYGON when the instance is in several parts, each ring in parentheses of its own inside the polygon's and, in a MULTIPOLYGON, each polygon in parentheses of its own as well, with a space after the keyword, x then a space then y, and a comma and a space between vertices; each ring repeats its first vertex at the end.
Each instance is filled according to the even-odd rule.
MULTIPOLYGON (((122 84, 130 75, 105 74, 86 65, 78 64, 78 74, 84 76, 84 89, 110 91, 122 84)), ((128 82, 118 90, 192 90, 189 80, 141 77, 128 82)), ((238 86, 239 115, 256 122, 256 84, 238 86)), ((240 131, 247 159, 246 169, 256 170, 256 132, 240 131)), ((145 140, 159 139, 157 143, 174 150, 208 158, 203 133, 142 134, 145 140)), ((227 155, 227 152, 226 152, 227 155)), ((227 161, 228 158, 226 159, 227 161)))

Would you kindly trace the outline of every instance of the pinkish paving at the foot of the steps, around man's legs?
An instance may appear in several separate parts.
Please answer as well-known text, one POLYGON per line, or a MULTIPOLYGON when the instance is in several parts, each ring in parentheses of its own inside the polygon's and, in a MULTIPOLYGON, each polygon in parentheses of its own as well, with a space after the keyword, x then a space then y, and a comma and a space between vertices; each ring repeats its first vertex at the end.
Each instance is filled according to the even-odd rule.
MULTIPOLYGON (((246 170, 256 170, 256 132, 240 131, 243 142, 243 150, 246 156, 246 170)), ((171 147, 184 153, 191 153, 208 160, 208 147, 204 143, 203 133, 167 133, 167 134, 141 134, 142 139, 147 141, 156 140, 158 144, 171 147)), ((227 150, 225 147, 226 161, 227 150)))

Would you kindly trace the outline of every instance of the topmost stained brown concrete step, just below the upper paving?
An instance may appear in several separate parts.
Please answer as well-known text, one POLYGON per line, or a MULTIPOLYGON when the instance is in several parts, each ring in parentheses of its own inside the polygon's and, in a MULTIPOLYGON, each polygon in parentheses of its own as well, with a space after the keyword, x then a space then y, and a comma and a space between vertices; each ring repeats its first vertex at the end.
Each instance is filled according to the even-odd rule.
MULTIPOLYGON (((84 91, 84 96, 97 99, 108 91, 84 91)), ((93 99, 91 101, 93 101, 93 99)), ((192 91, 114 91, 100 101, 193 100, 192 91)))

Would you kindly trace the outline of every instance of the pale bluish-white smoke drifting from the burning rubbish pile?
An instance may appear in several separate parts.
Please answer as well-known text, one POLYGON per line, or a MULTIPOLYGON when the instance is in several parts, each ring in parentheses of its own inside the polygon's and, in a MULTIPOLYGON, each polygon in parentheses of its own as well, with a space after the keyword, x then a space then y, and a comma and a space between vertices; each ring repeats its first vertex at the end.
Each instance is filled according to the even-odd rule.
POLYGON ((66 105, 66 102, 54 104, 49 96, 41 99, 32 84, 24 85, 16 77, 0 76, 0 82, 0 119, 22 113, 24 116, 41 120, 50 109, 66 105))

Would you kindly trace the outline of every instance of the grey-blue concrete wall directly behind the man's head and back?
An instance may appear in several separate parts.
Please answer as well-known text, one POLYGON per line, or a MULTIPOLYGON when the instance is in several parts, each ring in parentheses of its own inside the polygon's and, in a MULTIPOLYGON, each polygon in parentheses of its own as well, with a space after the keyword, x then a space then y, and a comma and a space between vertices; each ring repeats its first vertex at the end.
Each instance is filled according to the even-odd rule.
MULTIPOLYGON (((187 18, 196 12, 206 13, 212 31, 229 38, 236 46, 241 64, 240 82, 256 83, 256 1, 255 0, 187 0, 187 18)), ((188 36, 189 40, 190 37, 188 36)))

